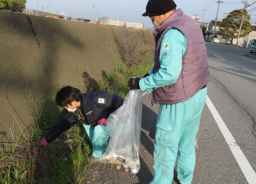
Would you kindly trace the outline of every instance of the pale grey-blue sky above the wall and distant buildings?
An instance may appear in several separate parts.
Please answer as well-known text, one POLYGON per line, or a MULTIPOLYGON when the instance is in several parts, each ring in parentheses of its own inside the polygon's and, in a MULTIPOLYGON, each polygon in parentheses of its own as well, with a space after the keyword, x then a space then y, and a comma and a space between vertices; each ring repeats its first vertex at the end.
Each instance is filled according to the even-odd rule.
MULTIPOLYGON (((71 17, 81 18, 82 14, 85 19, 87 15, 91 19, 93 13, 94 4, 94 18, 98 13, 101 17, 108 16, 112 19, 120 19, 129 22, 143 22, 146 28, 153 27, 151 19, 148 17, 143 17, 142 13, 146 10, 146 4, 148 0, 38 0, 38 10, 47 12, 47 6, 49 6, 49 12, 62 15, 67 14, 71 11, 71 17), (69 8, 68 8, 69 7, 69 8), (44 10, 43 10, 44 9, 44 10), (120 16, 119 16, 120 15, 120 16)), ((256 0, 248 0, 249 4, 254 3, 256 0)), ((204 13, 204 22, 210 22, 216 18, 218 3, 217 0, 176 0, 177 9, 181 8, 184 14, 188 16, 193 16, 198 13, 198 17, 203 18, 202 9, 207 9, 204 13)), ((225 3, 219 5, 218 20, 224 18, 223 13, 229 13, 235 9, 242 9, 244 4, 242 0, 223 0, 225 3), (232 3, 232 4, 230 4, 232 3)), ((37 9, 37 0, 27 0, 26 7, 28 9, 37 9)), ((256 7, 256 3, 248 7, 248 10, 256 7), (254 6, 255 5, 255 6, 254 6)), ((256 12, 251 14, 256 15, 256 12)), ((69 13, 70 15, 70 13, 69 13)), ((251 18, 256 18, 256 16, 251 16, 251 18)))

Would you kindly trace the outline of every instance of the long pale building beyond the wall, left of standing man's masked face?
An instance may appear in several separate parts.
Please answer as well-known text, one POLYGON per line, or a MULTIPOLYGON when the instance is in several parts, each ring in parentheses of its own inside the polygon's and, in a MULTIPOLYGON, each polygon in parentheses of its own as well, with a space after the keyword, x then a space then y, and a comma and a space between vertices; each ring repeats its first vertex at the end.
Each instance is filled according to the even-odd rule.
POLYGON ((113 20, 111 18, 103 19, 102 24, 109 25, 109 26, 117 26, 117 27, 144 29, 144 23, 124 22, 124 21, 120 21, 119 19, 113 20))

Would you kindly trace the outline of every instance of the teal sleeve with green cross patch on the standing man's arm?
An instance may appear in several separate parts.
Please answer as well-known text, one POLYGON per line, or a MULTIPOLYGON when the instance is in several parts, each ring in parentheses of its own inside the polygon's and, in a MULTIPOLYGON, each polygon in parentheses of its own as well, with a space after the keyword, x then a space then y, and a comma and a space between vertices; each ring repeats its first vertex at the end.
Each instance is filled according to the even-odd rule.
POLYGON ((151 93, 156 88, 176 83, 182 69, 182 56, 187 49, 187 39, 178 29, 170 29, 165 33, 160 48, 160 69, 140 79, 141 90, 151 93))

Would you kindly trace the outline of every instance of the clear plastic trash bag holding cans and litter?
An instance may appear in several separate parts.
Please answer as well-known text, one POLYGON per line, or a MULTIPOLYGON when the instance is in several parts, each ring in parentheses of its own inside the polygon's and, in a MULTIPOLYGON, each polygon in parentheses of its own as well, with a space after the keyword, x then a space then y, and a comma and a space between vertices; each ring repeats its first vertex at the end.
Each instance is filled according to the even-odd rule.
POLYGON ((99 160, 124 173, 136 174, 140 170, 142 94, 141 90, 130 91, 124 104, 107 119, 106 131, 111 137, 99 160))

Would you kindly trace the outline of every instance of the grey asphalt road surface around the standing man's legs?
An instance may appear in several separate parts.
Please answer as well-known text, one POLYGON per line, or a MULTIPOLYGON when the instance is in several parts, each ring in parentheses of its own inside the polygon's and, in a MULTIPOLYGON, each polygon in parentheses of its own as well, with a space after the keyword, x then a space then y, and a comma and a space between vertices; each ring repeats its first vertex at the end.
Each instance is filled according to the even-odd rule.
MULTIPOLYGON (((246 48, 206 43, 211 80, 196 148, 193 184, 256 184, 256 60, 246 48), (212 103, 212 106, 211 106, 212 103), (214 112, 214 109, 216 111, 214 112)), ((122 174, 108 164, 95 165, 86 183, 148 184, 158 105, 143 97, 141 170, 122 174), (93 179, 95 180, 93 180, 93 179)), ((176 184, 176 169, 174 180, 176 184)))

